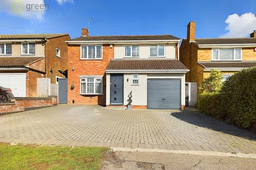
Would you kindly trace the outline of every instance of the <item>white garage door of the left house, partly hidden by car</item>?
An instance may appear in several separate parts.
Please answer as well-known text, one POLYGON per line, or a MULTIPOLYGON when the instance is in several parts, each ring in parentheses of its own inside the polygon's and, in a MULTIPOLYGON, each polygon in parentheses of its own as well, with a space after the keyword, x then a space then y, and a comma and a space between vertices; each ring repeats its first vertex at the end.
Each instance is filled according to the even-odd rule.
POLYGON ((0 73, 0 86, 11 88, 14 97, 26 97, 26 73, 0 73))

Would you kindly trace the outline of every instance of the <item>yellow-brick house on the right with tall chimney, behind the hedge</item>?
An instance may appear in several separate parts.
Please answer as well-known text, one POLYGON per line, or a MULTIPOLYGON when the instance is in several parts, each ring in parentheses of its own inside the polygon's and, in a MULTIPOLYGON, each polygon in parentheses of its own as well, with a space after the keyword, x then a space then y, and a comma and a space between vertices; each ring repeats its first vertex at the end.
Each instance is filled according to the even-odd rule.
MULTIPOLYGON (((190 70, 186 82, 199 87, 209 77, 211 69, 221 71, 225 81, 230 75, 246 67, 256 66, 256 32, 250 38, 195 38, 196 22, 187 26, 187 39, 180 46, 180 61, 190 70)), ((188 88, 189 89, 189 88, 188 88)), ((190 91, 196 103, 197 88, 190 91), (196 97, 195 97, 196 96, 196 97)))

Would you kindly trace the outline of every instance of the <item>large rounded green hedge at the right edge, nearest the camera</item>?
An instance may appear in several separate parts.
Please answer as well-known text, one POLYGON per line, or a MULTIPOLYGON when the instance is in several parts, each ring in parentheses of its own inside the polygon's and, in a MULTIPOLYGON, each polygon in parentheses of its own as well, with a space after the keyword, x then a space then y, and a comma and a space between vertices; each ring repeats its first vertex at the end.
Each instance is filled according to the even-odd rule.
POLYGON ((243 69, 224 83, 221 89, 227 122, 256 130, 256 67, 243 69))

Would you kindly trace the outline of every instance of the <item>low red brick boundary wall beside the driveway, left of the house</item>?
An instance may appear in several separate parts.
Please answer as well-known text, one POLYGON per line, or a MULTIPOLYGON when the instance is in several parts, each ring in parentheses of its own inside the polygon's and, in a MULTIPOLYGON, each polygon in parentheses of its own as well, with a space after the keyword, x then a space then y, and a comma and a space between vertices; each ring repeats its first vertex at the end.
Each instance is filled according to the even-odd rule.
POLYGON ((47 99, 15 99, 15 104, 0 104, 0 115, 6 113, 22 112, 25 109, 40 108, 40 107, 50 107, 57 105, 57 98, 47 98, 47 99))

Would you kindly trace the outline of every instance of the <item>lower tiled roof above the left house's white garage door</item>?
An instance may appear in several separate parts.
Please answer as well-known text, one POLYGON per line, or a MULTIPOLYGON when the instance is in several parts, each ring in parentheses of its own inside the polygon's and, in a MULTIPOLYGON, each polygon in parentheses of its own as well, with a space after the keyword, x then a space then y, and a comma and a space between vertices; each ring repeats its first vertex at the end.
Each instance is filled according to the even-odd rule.
POLYGON ((0 57, 0 66, 26 66, 44 57, 0 57))

